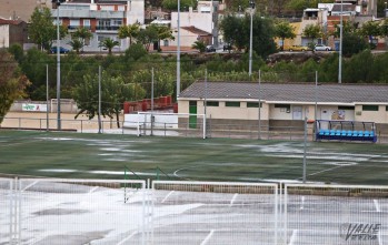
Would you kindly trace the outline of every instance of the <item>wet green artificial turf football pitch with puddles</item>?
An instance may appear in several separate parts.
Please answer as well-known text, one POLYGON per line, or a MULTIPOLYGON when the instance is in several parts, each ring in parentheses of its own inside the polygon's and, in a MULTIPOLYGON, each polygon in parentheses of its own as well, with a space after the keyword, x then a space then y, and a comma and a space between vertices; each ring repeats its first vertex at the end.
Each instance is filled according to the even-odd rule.
MULTIPOLYGON (((387 144, 308 142, 306 152, 308 182, 388 185, 387 144)), ((2 174, 272 182, 301 181, 302 165, 301 141, 0 130, 2 174)))

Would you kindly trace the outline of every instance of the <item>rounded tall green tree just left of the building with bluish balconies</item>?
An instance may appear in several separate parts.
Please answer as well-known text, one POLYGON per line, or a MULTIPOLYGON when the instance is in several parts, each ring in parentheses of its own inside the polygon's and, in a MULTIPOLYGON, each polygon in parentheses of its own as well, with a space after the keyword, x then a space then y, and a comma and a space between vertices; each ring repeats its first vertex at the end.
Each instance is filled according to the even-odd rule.
MULTIPOLYGON (((49 8, 36 8, 30 19, 28 29, 30 40, 42 50, 50 50, 52 42, 57 40, 57 25, 52 22, 49 8)), ((60 27, 60 39, 67 33, 67 29, 60 27)))

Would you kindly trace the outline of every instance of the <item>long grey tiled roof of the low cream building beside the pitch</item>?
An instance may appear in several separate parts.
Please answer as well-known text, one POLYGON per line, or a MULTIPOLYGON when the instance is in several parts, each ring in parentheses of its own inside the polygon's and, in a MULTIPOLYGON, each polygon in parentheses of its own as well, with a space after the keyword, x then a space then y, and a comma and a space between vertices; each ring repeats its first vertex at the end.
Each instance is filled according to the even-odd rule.
MULTIPOLYGON (((261 83, 260 100, 267 103, 376 103, 388 104, 388 85, 320 84, 315 83, 261 83)), ((180 93, 179 100, 258 100, 256 82, 196 82, 180 93)))

